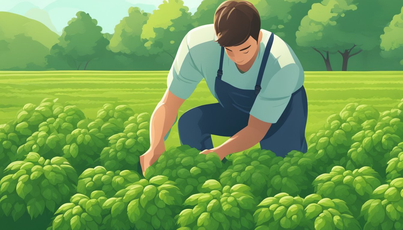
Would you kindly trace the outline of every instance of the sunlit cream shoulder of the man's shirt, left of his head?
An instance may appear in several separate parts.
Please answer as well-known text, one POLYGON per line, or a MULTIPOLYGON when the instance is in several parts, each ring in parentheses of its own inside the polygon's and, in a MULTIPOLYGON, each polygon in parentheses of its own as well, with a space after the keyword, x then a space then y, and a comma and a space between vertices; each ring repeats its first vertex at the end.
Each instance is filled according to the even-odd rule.
POLYGON ((206 43, 214 42, 214 24, 195 27, 187 32, 185 37, 189 49, 194 48, 195 46, 201 46, 206 43))

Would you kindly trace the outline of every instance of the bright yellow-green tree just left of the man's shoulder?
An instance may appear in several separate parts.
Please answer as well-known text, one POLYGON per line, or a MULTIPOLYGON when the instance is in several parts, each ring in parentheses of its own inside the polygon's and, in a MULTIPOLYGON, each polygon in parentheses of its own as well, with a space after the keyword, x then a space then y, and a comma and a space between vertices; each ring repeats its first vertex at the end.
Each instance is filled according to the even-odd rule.
POLYGON ((141 39, 144 39, 150 54, 164 52, 174 59, 181 40, 194 28, 188 10, 182 0, 164 0, 158 9, 153 11, 141 33, 141 39))

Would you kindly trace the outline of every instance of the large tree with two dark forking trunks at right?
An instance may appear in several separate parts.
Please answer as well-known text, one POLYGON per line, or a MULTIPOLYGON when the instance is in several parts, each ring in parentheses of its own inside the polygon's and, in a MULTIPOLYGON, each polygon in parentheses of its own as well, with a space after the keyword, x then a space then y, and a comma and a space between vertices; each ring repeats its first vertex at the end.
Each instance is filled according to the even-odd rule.
POLYGON ((297 44, 312 47, 320 53, 327 70, 332 70, 329 53, 341 54, 341 69, 346 71, 349 58, 379 45, 379 35, 390 18, 388 15, 399 4, 401 6, 397 0, 323 0, 314 3, 296 32, 297 44), (374 8, 377 9, 376 17, 368 17, 374 8))

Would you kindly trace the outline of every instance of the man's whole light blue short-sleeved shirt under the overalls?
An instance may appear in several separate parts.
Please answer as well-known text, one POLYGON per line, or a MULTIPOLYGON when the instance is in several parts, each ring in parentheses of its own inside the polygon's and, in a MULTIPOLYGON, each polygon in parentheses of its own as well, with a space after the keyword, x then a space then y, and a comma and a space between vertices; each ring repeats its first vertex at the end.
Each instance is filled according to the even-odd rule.
MULTIPOLYGON (((258 56, 249 70, 240 73, 235 62, 224 52, 222 81, 240 89, 255 89, 260 64, 271 32, 261 29, 258 56)), ((204 78, 214 97, 214 83, 220 63, 220 49, 214 24, 189 31, 181 41, 167 77, 168 89, 187 99, 204 78)), ((280 37, 274 35, 259 94, 250 115, 264 122, 276 123, 284 112, 291 94, 303 85, 304 72, 297 56, 280 37)))

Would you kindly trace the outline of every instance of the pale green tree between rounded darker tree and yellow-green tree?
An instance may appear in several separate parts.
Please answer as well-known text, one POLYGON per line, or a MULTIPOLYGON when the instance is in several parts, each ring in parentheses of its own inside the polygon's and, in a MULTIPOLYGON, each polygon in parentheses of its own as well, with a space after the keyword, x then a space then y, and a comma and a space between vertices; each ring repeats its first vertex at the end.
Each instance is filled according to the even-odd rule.
POLYGON ((124 17, 115 27, 115 33, 110 39, 109 48, 112 52, 125 54, 146 55, 144 43, 140 36, 142 28, 147 23, 150 13, 140 10, 139 7, 130 7, 129 16, 124 17))

